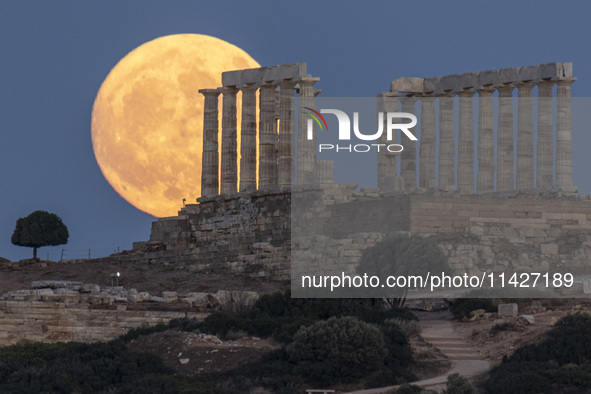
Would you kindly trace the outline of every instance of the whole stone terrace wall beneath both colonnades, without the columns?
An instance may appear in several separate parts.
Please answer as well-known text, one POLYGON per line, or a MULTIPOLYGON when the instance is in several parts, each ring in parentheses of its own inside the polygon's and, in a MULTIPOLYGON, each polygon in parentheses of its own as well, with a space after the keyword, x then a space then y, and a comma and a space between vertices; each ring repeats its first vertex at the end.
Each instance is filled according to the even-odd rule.
POLYGON ((318 273, 337 267, 354 272, 365 248, 396 231, 437 236, 457 272, 576 270, 591 259, 589 196, 558 191, 382 194, 358 192, 355 186, 202 199, 176 218, 155 222, 150 242, 118 258, 289 279, 291 230, 298 230, 290 217, 292 197, 304 195, 310 210, 300 220, 314 223, 314 231, 302 234, 297 246, 310 249, 307 267, 318 273))

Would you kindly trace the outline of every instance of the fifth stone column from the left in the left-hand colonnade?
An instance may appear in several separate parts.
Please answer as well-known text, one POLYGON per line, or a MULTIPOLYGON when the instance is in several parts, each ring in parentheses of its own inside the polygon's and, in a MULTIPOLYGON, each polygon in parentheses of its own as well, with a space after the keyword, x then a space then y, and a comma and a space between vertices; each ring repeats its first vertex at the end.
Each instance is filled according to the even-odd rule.
POLYGON ((278 142, 278 164, 279 172, 277 183, 279 187, 289 187, 295 179, 295 168, 293 163, 295 144, 293 132, 293 102, 295 82, 291 79, 279 83, 279 142, 278 142))

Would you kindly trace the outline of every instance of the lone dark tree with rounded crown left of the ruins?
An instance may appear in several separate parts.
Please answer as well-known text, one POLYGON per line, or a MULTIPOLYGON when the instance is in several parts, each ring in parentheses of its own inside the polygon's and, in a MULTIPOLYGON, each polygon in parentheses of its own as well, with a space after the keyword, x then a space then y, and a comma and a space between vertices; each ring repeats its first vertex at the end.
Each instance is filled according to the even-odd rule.
POLYGON ((68 243, 68 228, 55 213, 35 211, 16 221, 12 243, 33 248, 33 258, 37 258, 37 248, 68 243))

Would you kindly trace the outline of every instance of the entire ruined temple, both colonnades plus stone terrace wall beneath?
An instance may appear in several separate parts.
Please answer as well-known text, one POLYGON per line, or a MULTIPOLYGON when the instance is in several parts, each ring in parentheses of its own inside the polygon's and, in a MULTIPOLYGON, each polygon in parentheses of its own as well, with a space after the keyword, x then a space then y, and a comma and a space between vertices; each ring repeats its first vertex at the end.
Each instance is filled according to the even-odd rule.
POLYGON ((365 248, 403 231, 436 237, 458 273, 588 269, 591 199, 573 185, 571 63, 395 79, 376 108, 420 112, 419 142, 378 154, 371 189, 334 183, 333 163, 304 138, 302 108, 316 108, 318 80, 296 63, 226 72, 222 87, 202 90, 202 196, 154 222, 150 241, 121 261, 285 280, 296 244, 310 248, 306 269, 354 272, 365 248), (313 233, 294 220, 301 196, 313 201, 302 215, 313 233))

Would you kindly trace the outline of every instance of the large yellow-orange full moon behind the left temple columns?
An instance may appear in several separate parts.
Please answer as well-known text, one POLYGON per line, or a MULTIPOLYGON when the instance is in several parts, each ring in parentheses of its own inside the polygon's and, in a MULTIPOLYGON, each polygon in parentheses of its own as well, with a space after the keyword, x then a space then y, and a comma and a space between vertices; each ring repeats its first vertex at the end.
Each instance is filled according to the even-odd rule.
POLYGON ((200 34, 160 37, 121 59, 98 91, 91 125, 94 155, 113 189, 156 217, 176 215, 183 199, 194 202, 201 195, 199 89, 222 86, 224 71, 254 67, 242 49, 200 34))

